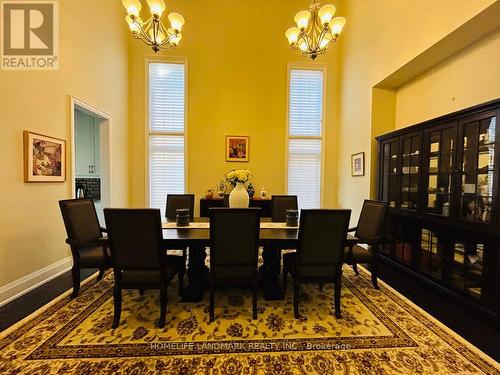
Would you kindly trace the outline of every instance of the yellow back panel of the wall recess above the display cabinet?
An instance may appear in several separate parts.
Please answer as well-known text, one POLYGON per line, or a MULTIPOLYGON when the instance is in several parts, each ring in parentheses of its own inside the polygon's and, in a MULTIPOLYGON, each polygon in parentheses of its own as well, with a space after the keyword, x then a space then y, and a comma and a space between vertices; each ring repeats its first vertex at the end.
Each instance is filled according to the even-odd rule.
POLYGON ((402 128, 500 98, 500 31, 481 39, 397 91, 402 128))

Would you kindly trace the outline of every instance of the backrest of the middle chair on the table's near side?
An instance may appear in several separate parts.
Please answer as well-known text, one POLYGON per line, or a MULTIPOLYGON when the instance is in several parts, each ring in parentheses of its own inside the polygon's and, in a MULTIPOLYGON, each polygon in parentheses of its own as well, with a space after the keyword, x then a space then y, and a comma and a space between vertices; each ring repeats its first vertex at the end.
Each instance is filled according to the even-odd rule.
POLYGON ((210 209, 210 268, 251 268, 257 276, 260 208, 210 209))

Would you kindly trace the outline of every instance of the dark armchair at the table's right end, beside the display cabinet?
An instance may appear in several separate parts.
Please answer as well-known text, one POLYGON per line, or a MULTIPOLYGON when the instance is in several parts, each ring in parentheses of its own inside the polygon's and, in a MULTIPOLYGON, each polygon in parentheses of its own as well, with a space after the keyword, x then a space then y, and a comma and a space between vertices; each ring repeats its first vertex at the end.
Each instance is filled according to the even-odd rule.
POLYGON ((345 250, 345 262, 352 265, 356 275, 358 274, 358 263, 371 265, 372 284, 375 289, 378 289, 377 248, 384 239, 386 212, 387 203, 365 200, 359 215, 358 225, 350 228, 349 232, 355 232, 354 235, 359 239, 359 243, 368 245, 368 248, 354 245, 345 250))

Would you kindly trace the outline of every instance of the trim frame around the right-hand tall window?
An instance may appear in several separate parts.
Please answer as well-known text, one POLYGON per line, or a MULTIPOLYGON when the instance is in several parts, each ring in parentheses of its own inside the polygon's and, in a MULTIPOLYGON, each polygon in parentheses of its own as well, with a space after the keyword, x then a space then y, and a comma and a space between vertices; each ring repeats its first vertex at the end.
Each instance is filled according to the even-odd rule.
POLYGON ((324 181, 325 181, 325 134, 327 124, 326 114, 326 80, 327 80, 327 65, 326 64, 309 64, 309 63, 288 63, 287 65, 287 84, 286 84, 286 136, 285 136, 285 192, 288 194, 288 147, 290 139, 319 139, 321 140, 321 158, 320 158, 320 181, 319 181, 319 205, 323 207, 324 202, 324 181), (290 75, 292 70, 319 70, 323 72, 323 95, 322 95, 322 111, 321 111, 321 135, 320 136, 296 136, 290 135, 290 75))

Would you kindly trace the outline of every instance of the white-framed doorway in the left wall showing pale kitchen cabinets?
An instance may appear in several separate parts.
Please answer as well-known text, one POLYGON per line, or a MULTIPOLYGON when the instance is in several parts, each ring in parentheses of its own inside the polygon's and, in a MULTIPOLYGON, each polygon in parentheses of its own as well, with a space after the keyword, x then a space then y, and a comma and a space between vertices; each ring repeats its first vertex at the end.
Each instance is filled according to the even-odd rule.
POLYGON ((71 97, 72 197, 93 199, 101 226, 113 205, 110 141, 111 116, 71 97))

